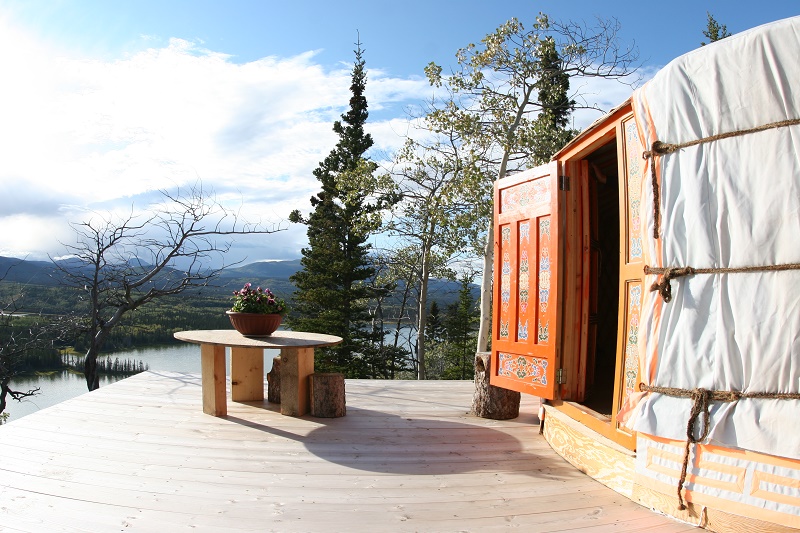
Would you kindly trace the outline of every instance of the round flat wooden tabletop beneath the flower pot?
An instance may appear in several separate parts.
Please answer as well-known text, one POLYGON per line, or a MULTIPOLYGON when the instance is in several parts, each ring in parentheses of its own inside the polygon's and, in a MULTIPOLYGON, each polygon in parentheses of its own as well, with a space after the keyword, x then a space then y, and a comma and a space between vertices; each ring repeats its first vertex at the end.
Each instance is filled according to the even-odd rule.
POLYGON ((308 333, 305 331, 276 331, 272 335, 244 336, 235 329, 203 329, 178 331, 175 338, 195 344, 216 344, 243 348, 311 348, 333 346, 342 342, 341 337, 308 333))

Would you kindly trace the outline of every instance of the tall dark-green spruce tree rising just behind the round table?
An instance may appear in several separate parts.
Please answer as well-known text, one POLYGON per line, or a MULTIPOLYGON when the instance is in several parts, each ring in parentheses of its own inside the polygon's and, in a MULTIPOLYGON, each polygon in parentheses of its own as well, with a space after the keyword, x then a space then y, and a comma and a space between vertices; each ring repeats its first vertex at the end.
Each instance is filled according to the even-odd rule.
POLYGON ((296 330, 342 337, 342 344, 317 350, 318 370, 368 377, 365 354, 376 339, 367 327, 367 305, 381 289, 368 283, 375 271, 367 240, 381 226, 380 212, 396 199, 379 192, 384 184, 366 156, 372 137, 364 131, 369 113, 360 42, 355 54, 350 109, 333 124, 339 142, 314 170, 322 190, 311 198, 307 218, 299 211, 289 217, 306 225, 309 246, 301 251, 302 270, 290 278, 296 292, 288 323, 296 330))

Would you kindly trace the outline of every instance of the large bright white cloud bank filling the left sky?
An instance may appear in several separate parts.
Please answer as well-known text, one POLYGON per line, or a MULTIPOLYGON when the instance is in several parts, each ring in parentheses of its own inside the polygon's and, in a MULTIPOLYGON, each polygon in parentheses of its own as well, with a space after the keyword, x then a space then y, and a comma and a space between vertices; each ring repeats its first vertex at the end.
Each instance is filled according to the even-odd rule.
MULTIPOLYGON (((148 191, 198 178, 245 216, 284 219, 317 191, 312 171, 334 147, 332 123, 349 103, 350 66, 325 70, 313 51, 237 64, 172 39, 100 61, 47 49, 2 20, 0 36, 0 215, 15 228, 0 234, 5 255, 58 254, 68 220, 81 220, 65 205, 130 208, 148 191)), ((373 109, 426 85, 370 76, 373 109)), ((376 148, 399 146, 401 123, 371 122, 376 148)), ((268 239, 249 259, 296 256, 304 232, 268 239)))

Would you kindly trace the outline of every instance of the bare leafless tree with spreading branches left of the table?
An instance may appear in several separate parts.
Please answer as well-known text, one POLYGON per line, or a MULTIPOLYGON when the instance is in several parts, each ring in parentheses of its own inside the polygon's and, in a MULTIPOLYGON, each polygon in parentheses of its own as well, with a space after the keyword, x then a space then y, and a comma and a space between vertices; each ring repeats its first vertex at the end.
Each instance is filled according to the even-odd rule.
POLYGON ((88 301, 80 332, 89 339, 84 374, 90 391, 100 386, 97 356, 127 313, 208 286, 238 264, 225 260, 226 239, 283 229, 243 222, 201 184, 160 193, 163 201, 146 213, 95 215, 72 224, 76 243, 64 244, 71 259, 54 261, 65 284, 84 291, 88 301))

